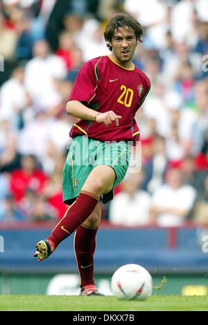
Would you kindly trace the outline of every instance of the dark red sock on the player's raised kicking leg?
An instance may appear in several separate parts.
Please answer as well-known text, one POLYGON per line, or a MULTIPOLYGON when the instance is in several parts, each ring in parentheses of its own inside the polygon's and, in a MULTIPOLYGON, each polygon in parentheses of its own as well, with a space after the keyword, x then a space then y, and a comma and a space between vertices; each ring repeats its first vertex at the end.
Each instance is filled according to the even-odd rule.
POLYGON ((59 224, 55 226, 52 235, 48 238, 48 240, 55 244, 55 248, 62 240, 69 237, 73 231, 76 231, 80 224, 85 222, 93 212, 98 201, 99 198, 95 194, 86 191, 80 192, 76 201, 71 204, 67 213, 65 213, 59 224))

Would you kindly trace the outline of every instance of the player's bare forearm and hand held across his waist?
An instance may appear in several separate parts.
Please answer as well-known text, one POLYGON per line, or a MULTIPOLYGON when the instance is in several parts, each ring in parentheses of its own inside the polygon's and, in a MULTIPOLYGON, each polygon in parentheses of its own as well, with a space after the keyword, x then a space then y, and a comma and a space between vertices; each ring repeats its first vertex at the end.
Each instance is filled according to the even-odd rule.
POLYGON ((78 117, 78 119, 104 123, 105 126, 109 126, 112 122, 115 122, 116 126, 119 126, 119 119, 121 119, 121 116, 116 115, 112 110, 106 113, 98 113, 83 105, 80 101, 68 101, 66 110, 67 114, 78 117))

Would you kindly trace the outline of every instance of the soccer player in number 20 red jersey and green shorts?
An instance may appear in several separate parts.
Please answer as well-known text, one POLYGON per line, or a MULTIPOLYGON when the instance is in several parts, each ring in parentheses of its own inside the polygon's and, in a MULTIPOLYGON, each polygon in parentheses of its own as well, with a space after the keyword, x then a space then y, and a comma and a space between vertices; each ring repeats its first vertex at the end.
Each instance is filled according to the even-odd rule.
POLYGON ((129 142, 139 140, 135 113, 150 90, 148 77, 132 63, 142 34, 134 17, 114 16, 104 33, 112 53, 83 65, 67 103, 67 113, 80 119, 71 128, 73 142, 63 171, 63 199, 70 206, 51 236, 37 243, 35 258, 45 260, 76 231, 74 249, 83 296, 103 295, 93 278, 101 201, 112 200, 128 169, 129 142))

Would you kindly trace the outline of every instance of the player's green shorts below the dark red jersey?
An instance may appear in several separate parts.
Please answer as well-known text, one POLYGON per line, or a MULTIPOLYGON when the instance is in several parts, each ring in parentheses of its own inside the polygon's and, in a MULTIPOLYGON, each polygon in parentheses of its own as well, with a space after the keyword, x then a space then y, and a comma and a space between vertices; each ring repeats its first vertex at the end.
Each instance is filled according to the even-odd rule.
POLYGON ((124 178, 130 163, 131 146, 128 142, 101 142, 85 135, 74 138, 64 165, 62 192, 64 203, 71 204, 78 197, 92 169, 107 165, 114 169, 116 180, 112 190, 103 194, 101 200, 112 200, 114 188, 124 178))

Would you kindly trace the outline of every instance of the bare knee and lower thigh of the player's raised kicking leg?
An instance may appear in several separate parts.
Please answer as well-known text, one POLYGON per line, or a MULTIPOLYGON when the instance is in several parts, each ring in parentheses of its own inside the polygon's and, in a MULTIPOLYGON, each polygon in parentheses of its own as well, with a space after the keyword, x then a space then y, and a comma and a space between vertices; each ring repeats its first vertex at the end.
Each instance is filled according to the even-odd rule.
POLYGON ((98 197, 112 190, 116 173, 114 169, 107 165, 98 165, 92 169, 82 190, 92 192, 98 197))

